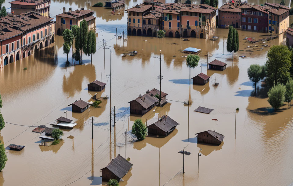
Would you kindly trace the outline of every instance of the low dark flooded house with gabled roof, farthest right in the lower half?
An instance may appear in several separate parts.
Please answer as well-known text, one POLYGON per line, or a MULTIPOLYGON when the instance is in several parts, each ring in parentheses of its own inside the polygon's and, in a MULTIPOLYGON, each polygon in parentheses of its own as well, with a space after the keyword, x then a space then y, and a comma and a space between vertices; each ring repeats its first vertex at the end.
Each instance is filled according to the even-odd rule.
POLYGON ((197 134, 197 143, 208 143, 213 145, 220 145, 224 139, 224 135, 212 130, 207 130, 207 131, 199 132, 196 134, 197 134))

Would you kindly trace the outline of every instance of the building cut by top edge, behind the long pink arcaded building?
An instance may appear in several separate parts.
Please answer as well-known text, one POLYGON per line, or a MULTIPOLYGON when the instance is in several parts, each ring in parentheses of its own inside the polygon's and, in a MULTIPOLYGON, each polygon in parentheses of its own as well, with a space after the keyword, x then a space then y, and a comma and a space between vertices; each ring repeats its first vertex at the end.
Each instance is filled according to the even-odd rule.
POLYGON ((15 15, 34 11, 41 16, 50 16, 50 0, 15 0, 9 3, 11 4, 11 12, 15 15))

